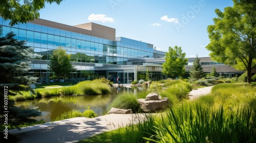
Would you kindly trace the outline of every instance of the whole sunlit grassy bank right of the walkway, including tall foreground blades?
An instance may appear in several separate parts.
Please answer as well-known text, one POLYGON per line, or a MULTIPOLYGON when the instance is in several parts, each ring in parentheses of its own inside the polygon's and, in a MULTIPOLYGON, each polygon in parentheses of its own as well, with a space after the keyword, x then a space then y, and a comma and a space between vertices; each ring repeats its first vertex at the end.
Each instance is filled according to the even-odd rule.
POLYGON ((207 96, 79 142, 255 142, 255 94, 253 85, 218 84, 207 96))

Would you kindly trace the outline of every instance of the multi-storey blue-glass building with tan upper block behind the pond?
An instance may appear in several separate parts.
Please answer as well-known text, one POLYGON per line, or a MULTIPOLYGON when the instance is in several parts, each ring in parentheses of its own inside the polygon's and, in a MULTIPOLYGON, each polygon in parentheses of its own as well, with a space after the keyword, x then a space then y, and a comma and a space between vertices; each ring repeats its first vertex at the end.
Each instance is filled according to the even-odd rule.
POLYGON ((26 44, 34 49, 30 57, 31 70, 28 75, 38 77, 38 83, 56 80, 54 73, 48 68, 53 50, 62 46, 71 55, 75 71, 65 76, 66 82, 93 80, 100 77, 115 81, 120 77, 121 83, 145 79, 146 70, 150 79, 160 80, 161 65, 134 64, 132 59, 153 59, 164 57, 165 52, 154 50, 153 44, 124 37, 116 37, 115 29, 85 23, 68 26, 61 23, 35 19, 28 23, 9 26, 9 20, 0 17, 5 36, 13 31, 18 40, 27 40, 26 44))

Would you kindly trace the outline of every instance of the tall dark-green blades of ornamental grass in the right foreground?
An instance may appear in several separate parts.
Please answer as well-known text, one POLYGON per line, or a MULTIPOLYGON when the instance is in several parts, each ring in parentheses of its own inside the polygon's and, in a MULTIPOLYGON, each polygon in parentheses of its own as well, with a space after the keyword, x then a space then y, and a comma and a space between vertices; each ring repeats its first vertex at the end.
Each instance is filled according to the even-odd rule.
POLYGON ((220 106, 213 110, 190 102, 167 111, 156 123, 155 135, 144 138, 154 142, 255 142, 255 122, 251 108, 234 112, 220 106))

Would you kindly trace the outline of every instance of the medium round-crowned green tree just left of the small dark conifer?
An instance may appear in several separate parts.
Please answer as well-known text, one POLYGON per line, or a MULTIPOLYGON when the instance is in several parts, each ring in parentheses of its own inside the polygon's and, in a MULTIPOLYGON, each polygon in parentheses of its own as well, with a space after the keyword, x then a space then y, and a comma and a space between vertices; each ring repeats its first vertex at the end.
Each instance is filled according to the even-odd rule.
POLYGON ((169 47, 165 54, 162 73, 171 77, 182 77, 185 74, 184 65, 187 64, 186 53, 182 53, 181 47, 169 47))

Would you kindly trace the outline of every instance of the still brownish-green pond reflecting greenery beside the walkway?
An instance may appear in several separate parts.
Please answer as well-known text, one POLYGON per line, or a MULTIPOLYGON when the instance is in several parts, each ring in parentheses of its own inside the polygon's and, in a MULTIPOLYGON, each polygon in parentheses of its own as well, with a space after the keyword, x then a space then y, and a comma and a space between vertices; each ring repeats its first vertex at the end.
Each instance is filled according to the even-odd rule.
POLYGON ((61 96, 61 97, 52 97, 52 98, 41 98, 35 100, 27 100, 27 101, 18 101, 15 103, 16 107, 20 107, 22 109, 36 109, 41 112, 41 116, 35 117, 36 120, 44 120, 45 122, 51 122, 56 117, 58 117, 63 112, 72 111, 72 110, 80 110, 83 112, 90 107, 95 113, 100 116, 104 115, 111 102, 122 92, 136 92, 143 87, 138 88, 129 88, 129 87, 112 87, 110 94, 103 94, 98 96, 82 96, 82 97, 74 97, 74 96, 61 96))

